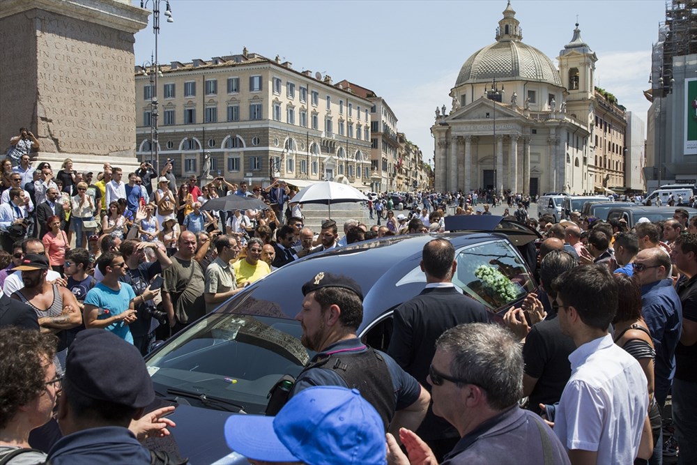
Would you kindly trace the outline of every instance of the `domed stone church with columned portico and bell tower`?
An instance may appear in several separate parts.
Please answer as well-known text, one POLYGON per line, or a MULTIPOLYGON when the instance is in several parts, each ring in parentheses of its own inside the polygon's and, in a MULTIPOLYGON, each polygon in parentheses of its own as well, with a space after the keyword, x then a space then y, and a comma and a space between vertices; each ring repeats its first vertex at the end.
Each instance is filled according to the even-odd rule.
POLYGON ((597 56, 576 24, 557 68, 523 43, 515 15, 509 1, 496 42, 465 61, 452 107, 436 109, 435 188, 593 192, 597 56))

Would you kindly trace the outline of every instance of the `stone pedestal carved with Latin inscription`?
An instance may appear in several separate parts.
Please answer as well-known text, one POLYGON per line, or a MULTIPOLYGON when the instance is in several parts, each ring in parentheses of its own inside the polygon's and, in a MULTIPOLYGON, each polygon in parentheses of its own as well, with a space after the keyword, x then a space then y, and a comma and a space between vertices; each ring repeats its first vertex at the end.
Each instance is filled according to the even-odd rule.
POLYGON ((65 158, 135 168, 133 43, 148 13, 130 0, 0 0, 0 149, 26 126, 32 158, 54 171, 65 158))

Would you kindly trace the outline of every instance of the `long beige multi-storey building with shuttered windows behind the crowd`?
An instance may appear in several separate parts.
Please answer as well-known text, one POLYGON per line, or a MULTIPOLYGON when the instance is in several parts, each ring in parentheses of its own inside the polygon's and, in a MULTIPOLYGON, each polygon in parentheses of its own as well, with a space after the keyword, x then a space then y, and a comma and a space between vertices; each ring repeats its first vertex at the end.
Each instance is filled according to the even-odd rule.
POLYGON ((246 48, 162 66, 156 94, 153 73, 143 71, 136 67, 139 160, 153 158, 158 140, 160 167, 170 158, 177 177, 201 175, 210 153, 210 175, 231 182, 268 185, 279 176, 298 187, 331 180, 367 190, 372 104, 330 76, 246 48))

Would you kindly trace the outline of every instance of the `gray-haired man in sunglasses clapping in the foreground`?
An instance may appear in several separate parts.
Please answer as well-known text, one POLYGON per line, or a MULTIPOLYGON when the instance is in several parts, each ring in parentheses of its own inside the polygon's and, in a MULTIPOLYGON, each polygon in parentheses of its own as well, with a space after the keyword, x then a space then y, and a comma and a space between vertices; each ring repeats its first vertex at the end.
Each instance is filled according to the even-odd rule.
MULTIPOLYGON (((518 341, 498 325, 468 323, 436 341, 428 381, 433 410, 461 439, 443 464, 569 464, 564 446, 542 418, 520 408, 523 356, 518 341)), ((399 429, 411 459, 437 463, 415 433, 399 429)), ((388 463, 409 464, 388 435, 388 463)))

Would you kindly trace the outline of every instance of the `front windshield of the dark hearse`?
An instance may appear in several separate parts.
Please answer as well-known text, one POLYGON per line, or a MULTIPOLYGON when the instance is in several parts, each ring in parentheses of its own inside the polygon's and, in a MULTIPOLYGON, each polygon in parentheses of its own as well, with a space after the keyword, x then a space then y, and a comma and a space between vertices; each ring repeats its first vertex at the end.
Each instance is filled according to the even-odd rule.
POLYGON ((312 356, 301 335, 300 323, 291 319, 213 313, 156 352, 148 372, 162 397, 263 414, 269 390, 284 374, 298 376, 312 356))

